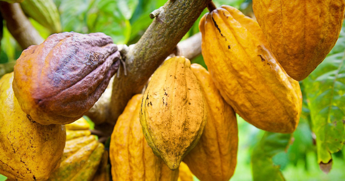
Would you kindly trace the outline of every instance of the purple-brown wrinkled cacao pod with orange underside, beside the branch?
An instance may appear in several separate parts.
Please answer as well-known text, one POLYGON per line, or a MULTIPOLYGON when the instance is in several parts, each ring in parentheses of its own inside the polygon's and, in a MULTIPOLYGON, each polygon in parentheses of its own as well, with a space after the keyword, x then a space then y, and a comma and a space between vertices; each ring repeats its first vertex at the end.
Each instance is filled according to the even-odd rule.
POLYGON ((14 95, 40 124, 69 124, 99 99, 117 71, 119 57, 116 44, 103 33, 52 34, 18 58, 14 95))

